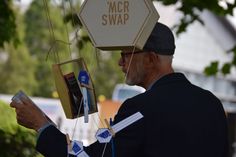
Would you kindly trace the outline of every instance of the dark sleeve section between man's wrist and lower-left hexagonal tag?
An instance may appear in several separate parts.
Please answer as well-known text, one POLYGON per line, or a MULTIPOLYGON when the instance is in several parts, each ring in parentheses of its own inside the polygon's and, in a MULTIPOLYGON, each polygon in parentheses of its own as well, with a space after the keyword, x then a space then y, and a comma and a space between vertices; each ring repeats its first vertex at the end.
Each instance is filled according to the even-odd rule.
POLYGON ((66 157, 66 135, 61 133, 55 126, 51 125, 38 137, 36 150, 45 157, 66 157))

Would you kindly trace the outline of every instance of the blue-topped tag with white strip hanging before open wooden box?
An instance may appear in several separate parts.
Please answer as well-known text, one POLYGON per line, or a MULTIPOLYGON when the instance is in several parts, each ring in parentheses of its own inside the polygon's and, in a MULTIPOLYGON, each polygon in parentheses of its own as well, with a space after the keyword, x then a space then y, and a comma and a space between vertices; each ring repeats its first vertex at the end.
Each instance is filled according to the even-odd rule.
POLYGON ((89 104, 88 104, 88 91, 86 87, 83 87, 83 85, 88 86, 89 85, 89 75, 85 70, 81 70, 79 72, 79 82, 82 85, 82 94, 83 94, 83 102, 84 102, 84 122, 88 123, 89 117, 89 104))

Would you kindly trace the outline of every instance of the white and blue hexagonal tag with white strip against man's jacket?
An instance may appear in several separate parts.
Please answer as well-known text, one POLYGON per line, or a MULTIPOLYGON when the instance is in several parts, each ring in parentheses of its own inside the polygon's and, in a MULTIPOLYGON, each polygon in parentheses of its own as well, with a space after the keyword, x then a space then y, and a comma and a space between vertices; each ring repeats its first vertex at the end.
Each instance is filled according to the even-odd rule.
MULTIPOLYGON (((114 132, 114 134, 116 134, 120 130, 126 128, 127 126, 133 124, 134 122, 138 121, 141 118, 143 118, 143 115, 140 112, 137 112, 113 126, 110 126, 109 124, 107 124, 108 128, 98 129, 95 137, 100 143, 109 143, 111 141, 112 136, 113 136, 112 132, 114 132)), ((105 120, 105 122, 106 121, 107 120, 105 120)))

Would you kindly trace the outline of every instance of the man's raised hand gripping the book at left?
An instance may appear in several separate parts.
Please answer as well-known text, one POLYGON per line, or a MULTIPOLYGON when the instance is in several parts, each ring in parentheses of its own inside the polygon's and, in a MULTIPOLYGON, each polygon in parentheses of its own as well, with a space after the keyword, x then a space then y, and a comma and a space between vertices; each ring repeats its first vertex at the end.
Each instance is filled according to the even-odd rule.
POLYGON ((38 131, 49 123, 44 113, 32 101, 21 98, 21 102, 12 101, 10 106, 15 108, 17 123, 38 131))

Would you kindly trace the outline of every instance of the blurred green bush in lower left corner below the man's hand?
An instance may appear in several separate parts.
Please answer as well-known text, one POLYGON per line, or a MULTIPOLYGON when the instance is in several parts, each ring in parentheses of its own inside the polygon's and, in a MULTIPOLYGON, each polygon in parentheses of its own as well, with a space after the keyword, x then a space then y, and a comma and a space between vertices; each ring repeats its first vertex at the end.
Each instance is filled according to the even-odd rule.
POLYGON ((35 150, 36 134, 16 123, 14 109, 0 101, 0 156, 40 157, 35 150))

